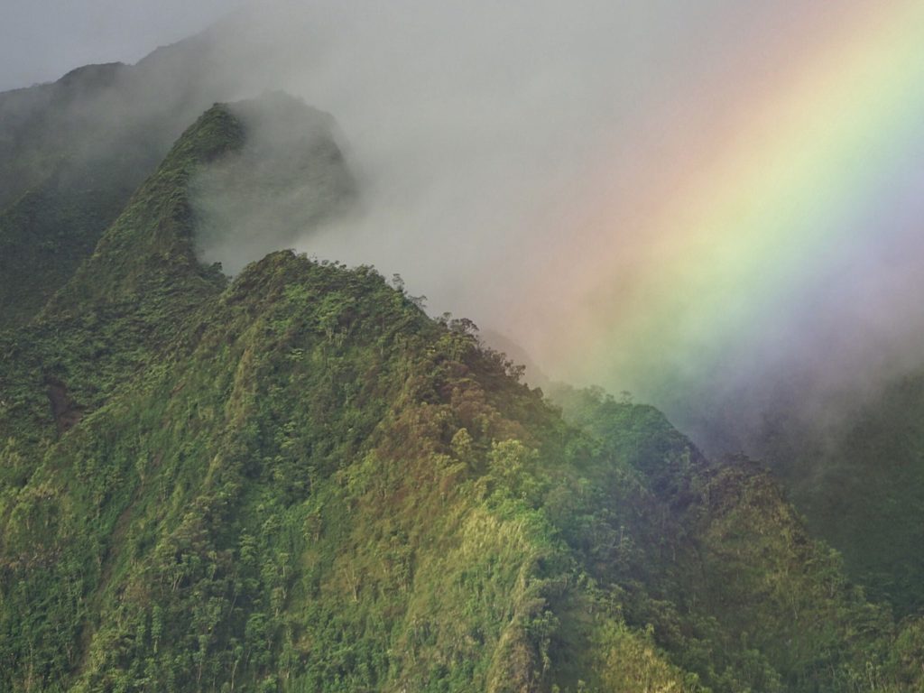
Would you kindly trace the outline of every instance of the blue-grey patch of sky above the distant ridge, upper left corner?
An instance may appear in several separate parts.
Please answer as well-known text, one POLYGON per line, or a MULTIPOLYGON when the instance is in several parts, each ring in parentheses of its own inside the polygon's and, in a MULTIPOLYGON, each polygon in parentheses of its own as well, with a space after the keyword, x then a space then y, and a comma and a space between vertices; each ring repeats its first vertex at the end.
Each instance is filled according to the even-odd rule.
POLYGON ((0 0, 0 91, 91 63, 135 63, 239 5, 237 0, 0 0))

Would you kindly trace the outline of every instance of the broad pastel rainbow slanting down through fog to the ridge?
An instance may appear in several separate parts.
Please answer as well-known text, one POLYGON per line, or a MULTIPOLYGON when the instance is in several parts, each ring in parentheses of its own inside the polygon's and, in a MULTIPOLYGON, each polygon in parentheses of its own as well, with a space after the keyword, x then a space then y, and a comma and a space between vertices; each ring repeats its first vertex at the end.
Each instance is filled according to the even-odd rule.
POLYGON ((676 170, 604 167, 534 287, 566 313, 530 343, 553 372, 643 393, 665 372, 721 370, 740 335, 792 327, 806 292, 850 258, 912 220, 924 231, 920 186, 907 185, 924 164, 924 2, 831 5, 830 26, 781 46, 773 79, 673 104, 671 117, 686 98, 732 114, 676 170))

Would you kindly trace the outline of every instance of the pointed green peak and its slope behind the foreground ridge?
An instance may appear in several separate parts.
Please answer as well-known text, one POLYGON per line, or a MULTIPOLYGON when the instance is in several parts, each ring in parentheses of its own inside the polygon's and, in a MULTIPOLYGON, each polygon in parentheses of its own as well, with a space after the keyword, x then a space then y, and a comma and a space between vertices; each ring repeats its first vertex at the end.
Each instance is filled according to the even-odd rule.
MULTIPOLYGON (((267 103, 266 112, 272 114, 277 105, 267 103)), ((298 131, 316 128, 316 112, 286 105, 290 117, 292 108, 301 116, 292 122, 298 131)), ((233 108, 260 110, 248 103, 233 108)), ((127 387, 127 374, 163 359, 182 338, 189 316, 225 286, 216 268, 196 259, 190 186, 244 148, 249 131, 244 120, 225 105, 202 115, 37 319, 0 331, 6 346, 0 357, 0 423, 6 431, 23 431, 11 445, 37 444, 42 439, 36 431, 54 430, 49 424, 65 429, 83 411, 127 387), (51 422, 46 420, 49 393, 55 394, 51 422)), ((335 167, 327 170, 334 179, 343 177, 335 167)), ((21 478, 17 464, 7 465, 4 473, 21 478)))

